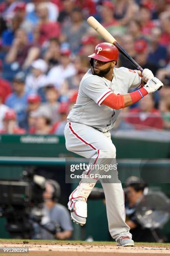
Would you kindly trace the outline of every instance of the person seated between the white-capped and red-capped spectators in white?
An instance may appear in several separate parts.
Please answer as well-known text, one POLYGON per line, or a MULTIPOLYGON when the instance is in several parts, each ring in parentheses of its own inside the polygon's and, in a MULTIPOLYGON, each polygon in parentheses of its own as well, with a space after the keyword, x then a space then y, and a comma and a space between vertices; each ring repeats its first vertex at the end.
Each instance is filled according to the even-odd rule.
POLYGON ((60 42, 57 38, 50 39, 44 59, 48 63, 49 69, 60 63, 60 42))

